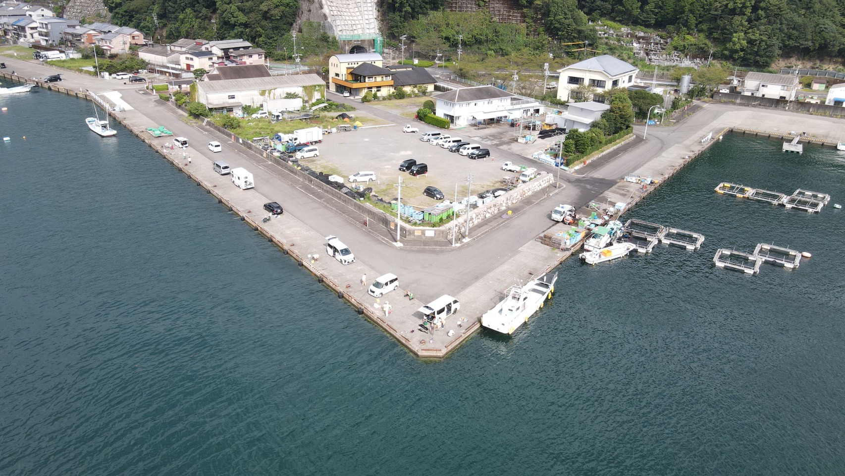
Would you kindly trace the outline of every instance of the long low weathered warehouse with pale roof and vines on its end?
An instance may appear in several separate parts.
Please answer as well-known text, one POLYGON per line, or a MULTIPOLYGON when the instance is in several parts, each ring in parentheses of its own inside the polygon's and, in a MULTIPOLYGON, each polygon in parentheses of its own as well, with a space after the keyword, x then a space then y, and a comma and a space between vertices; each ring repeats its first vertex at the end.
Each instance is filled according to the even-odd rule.
POLYGON ((315 101, 324 96, 325 82, 317 74, 269 78, 198 81, 197 101, 213 112, 240 114, 243 106, 261 107, 264 101, 284 99, 288 93, 315 101))

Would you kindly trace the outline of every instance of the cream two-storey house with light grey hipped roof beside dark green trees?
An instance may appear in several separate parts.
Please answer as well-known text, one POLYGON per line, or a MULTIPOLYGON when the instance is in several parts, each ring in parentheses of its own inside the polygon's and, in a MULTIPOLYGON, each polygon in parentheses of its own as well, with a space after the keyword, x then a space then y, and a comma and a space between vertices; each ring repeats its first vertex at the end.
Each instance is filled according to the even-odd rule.
POLYGON ((559 70, 560 101, 590 101, 596 93, 634 84, 639 69, 610 55, 591 57, 559 70))

